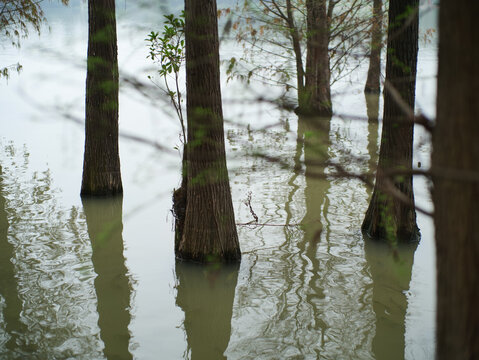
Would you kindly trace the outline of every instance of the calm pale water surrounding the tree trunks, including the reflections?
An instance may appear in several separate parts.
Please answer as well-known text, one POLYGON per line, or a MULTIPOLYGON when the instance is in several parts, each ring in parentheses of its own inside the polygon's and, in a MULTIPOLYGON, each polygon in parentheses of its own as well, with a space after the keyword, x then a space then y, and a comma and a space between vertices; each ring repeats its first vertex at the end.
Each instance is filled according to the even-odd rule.
MULTIPOLYGON (((122 138, 124 196, 82 202, 83 129, 62 114, 83 114, 87 9, 49 6, 51 31, 0 55, 0 64, 24 66, 0 82, 0 358, 434 358, 432 221, 418 214, 421 243, 401 247, 395 260, 359 230, 371 189, 325 178, 333 168, 321 165, 374 167, 382 101, 362 93, 367 63, 333 88, 336 111, 350 116, 330 121, 246 101, 269 88, 224 84, 237 222, 253 220, 244 203, 251 196, 267 225, 239 226, 239 266, 176 263, 173 112, 159 96, 124 86, 121 131, 171 151, 122 138)), ((143 39, 162 7, 118 2, 123 74, 152 73, 143 39)), ((421 18, 423 28, 434 16, 421 18)), ((227 58, 240 49, 226 42, 221 51, 227 58)), ((434 43, 419 56, 417 106, 433 116, 434 43)), ((427 167, 428 137, 415 136, 415 162, 427 167)), ((417 202, 430 209, 427 187, 415 180, 417 202)))

